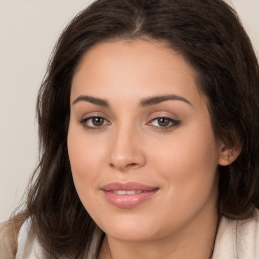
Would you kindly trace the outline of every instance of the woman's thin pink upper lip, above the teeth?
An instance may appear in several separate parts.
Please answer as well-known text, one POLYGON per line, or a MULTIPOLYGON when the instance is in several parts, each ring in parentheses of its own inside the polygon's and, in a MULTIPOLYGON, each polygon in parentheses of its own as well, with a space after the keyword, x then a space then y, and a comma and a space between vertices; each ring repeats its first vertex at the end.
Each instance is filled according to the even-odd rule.
POLYGON ((124 191, 134 191, 134 190, 141 190, 141 191, 153 191, 158 189, 155 186, 148 186, 145 184, 137 183, 137 182, 127 182, 127 183, 120 183, 120 182, 112 182, 107 185, 104 185, 100 188, 104 191, 115 191, 115 190, 124 190, 124 191))

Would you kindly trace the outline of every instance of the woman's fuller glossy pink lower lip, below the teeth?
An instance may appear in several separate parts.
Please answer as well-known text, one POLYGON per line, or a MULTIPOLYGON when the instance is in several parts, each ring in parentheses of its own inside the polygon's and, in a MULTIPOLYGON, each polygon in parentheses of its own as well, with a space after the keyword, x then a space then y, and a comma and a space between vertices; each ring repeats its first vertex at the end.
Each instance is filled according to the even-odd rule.
POLYGON ((153 191, 145 191, 136 194, 116 194, 113 192, 107 192, 103 190, 104 197, 114 206, 119 208, 133 208, 150 198, 157 193, 158 189, 153 191))

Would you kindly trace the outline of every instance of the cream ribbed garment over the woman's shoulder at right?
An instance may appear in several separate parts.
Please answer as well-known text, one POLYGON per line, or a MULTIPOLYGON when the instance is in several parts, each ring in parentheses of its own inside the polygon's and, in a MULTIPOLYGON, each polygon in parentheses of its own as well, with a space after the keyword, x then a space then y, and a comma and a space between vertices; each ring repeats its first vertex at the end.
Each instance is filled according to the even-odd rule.
POLYGON ((222 218, 215 240, 213 258, 259 258, 259 210, 246 220, 222 218))

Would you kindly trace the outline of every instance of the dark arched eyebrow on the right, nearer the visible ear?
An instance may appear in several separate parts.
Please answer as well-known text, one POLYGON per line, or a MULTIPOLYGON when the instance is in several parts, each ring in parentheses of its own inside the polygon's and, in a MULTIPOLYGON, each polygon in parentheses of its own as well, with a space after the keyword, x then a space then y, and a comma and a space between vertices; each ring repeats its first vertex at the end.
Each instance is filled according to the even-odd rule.
POLYGON ((190 103, 187 99, 184 97, 178 96, 178 95, 161 95, 161 96, 153 96, 149 98, 142 99, 139 106, 141 107, 147 107, 156 105, 165 101, 183 101, 191 106, 193 106, 192 103, 190 103))

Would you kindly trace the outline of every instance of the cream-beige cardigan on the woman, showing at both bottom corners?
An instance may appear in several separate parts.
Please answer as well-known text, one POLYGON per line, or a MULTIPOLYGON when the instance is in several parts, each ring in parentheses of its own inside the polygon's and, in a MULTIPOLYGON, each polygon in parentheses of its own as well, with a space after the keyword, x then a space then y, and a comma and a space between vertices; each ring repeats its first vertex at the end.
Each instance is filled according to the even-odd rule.
MULTIPOLYGON (((13 245, 6 239, 8 228, 0 226, 0 259, 44 258, 34 237, 29 220, 18 234, 18 249, 14 255, 13 245)), ((14 239, 13 239, 13 242, 14 239)), ((221 219, 212 259, 259 259, 259 210, 247 220, 221 219)))

